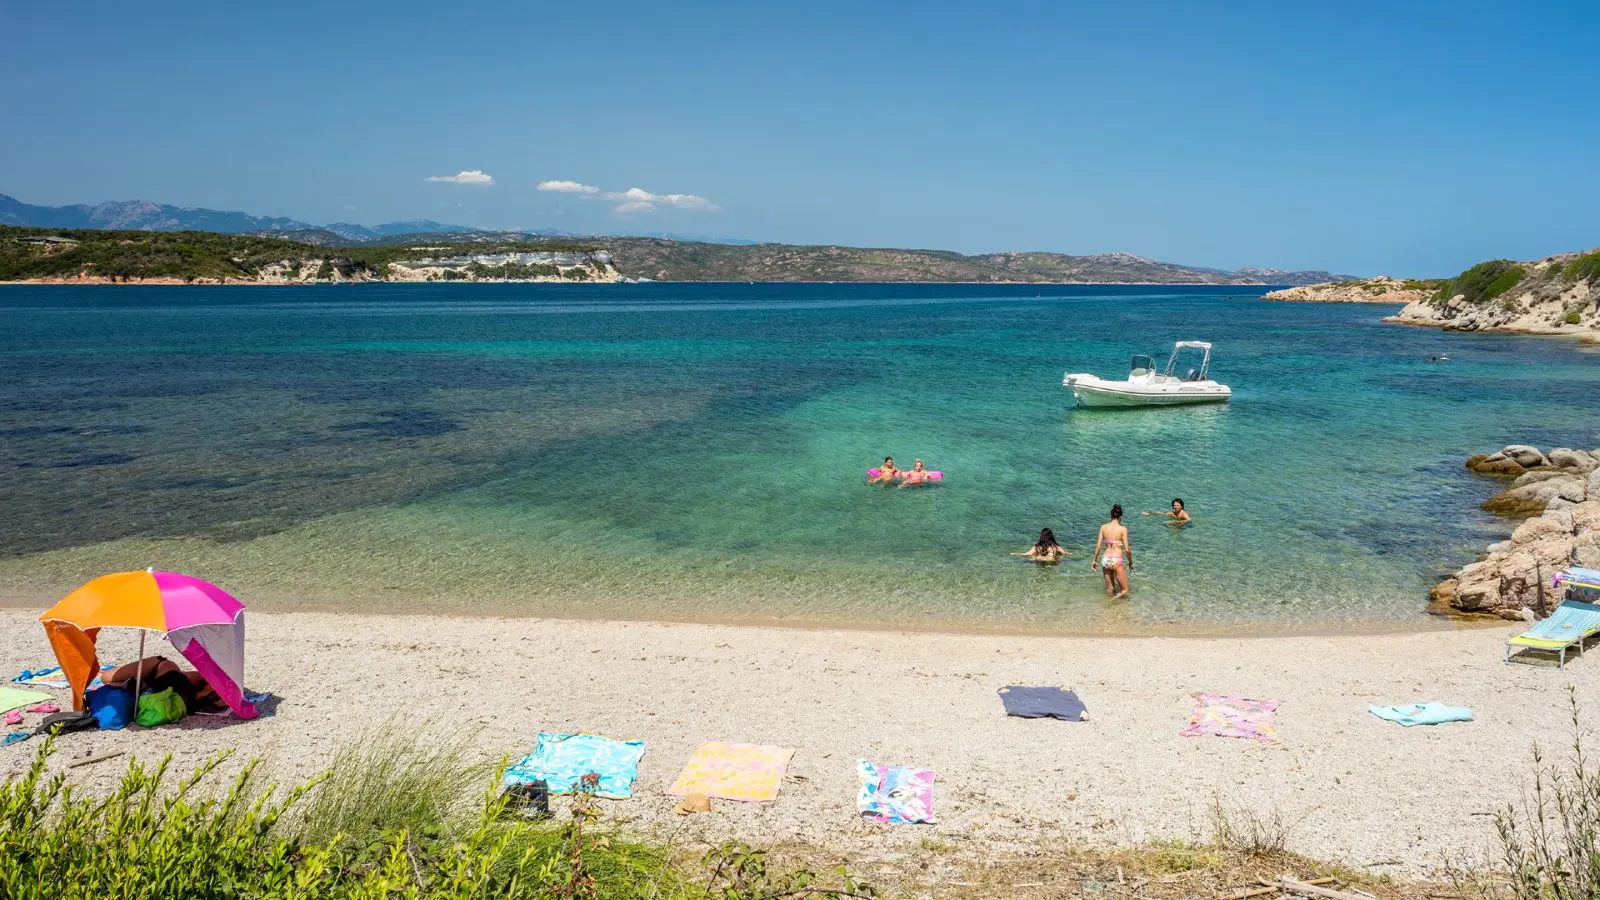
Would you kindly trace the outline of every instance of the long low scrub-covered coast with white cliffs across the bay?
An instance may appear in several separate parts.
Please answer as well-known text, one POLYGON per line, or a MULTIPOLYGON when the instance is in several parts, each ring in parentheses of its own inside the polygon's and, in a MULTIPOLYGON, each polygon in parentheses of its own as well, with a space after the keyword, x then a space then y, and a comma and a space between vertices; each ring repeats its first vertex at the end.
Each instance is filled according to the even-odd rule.
MULTIPOLYGON (((0 221, 5 221, 3 211, 0 205, 0 221)), ((581 275, 576 280, 1301 285, 1338 277, 1320 271, 1285 272, 1254 267, 1229 272, 1162 263, 1133 253, 963 255, 946 250, 733 245, 659 237, 555 237, 475 229, 374 234, 365 239, 349 229, 334 232, 270 227, 262 232, 221 234, 170 229, 168 224, 186 221, 176 213, 184 211, 176 210, 173 216, 154 218, 149 227, 138 231, 0 226, 0 280, 299 283, 574 280, 581 275), (579 259, 568 264, 554 256, 534 259, 541 253, 594 256, 589 263, 579 259), (605 259, 598 255, 605 255, 605 259), (552 272, 549 266, 557 266, 560 271, 552 272)), ((230 215, 214 213, 202 218, 234 226, 254 221, 246 218, 235 223, 227 218, 230 215)), ((453 227, 438 223, 392 223, 384 227, 403 229, 408 224, 453 227)))

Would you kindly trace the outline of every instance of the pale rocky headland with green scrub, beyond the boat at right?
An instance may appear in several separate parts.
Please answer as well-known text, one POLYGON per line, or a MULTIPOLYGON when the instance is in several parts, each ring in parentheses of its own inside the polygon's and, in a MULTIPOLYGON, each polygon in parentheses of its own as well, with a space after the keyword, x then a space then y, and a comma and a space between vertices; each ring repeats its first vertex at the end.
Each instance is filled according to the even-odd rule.
POLYGON ((1280 290, 1266 299, 1403 303, 1384 319, 1451 331, 1600 336, 1600 250, 1534 263, 1490 259, 1448 280, 1370 279, 1280 290))

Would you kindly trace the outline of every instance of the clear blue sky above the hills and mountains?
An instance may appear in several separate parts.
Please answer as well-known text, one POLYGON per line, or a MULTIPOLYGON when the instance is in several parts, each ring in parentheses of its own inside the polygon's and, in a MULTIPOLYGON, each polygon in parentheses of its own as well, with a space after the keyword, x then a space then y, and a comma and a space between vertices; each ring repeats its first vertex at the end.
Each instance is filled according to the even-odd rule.
POLYGON ((30 203, 1397 275, 1600 245, 1587 0, 74 0, 0 21, 0 192, 30 203), (462 171, 493 184, 427 181, 462 171))

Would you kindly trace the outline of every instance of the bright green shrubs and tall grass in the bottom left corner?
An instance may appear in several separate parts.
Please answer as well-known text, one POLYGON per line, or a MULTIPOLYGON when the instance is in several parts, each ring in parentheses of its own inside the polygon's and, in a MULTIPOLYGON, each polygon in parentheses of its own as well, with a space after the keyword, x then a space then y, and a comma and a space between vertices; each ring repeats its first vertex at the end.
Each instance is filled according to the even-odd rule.
MULTIPOLYGON (((224 751, 174 780, 171 757, 128 764, 117 790, 78 793, 50 775, 54 738, 0 783, 0 897, 352 900, 875 897, 845 871, 778 868, 725 844, 685 865, 670 847, 602 825, 579 791, 565 820, 526 820, 498 796, 504 767, 461 738, 390 727, 288 791, 258 762, 208 785, 224 751), (326 790, 326 791, 325 791, 326 790), (325 791, 325 793, 323 793, 325 791)), ((592 788, 589 788, 592 791, 592 788)))

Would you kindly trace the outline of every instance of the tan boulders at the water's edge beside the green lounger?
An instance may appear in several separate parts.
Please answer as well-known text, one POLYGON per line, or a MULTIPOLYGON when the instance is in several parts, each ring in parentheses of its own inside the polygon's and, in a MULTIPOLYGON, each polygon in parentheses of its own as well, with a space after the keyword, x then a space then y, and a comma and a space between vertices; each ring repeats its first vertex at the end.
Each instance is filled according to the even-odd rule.
POLYGON ((1510 538, 1440 581, 1429 594, 1437 613, 1522 618, 1547 615, 1557 602, 1550 575, 1568 567, 1600 569, 1600 450, 1557 447, 1549 453, 1514 444, 1467 460, 1482 476, 1510 479, 1483 501, 1498 516, 1523 519, 1510 538))

